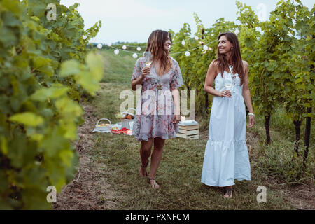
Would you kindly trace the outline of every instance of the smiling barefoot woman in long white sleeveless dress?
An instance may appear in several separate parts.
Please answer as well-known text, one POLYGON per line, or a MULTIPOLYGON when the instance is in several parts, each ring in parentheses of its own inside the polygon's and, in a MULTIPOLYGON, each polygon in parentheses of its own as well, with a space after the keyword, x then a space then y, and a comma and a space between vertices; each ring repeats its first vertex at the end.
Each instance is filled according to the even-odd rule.
POLYGON ((255 119, 248 89, 248 64, 241 59, 234 33, 218 36, 217 57, 209 65, 204 83, 204 90, 214 95, 214 100, 201 182, 225 188, 224 197, 232 198, 234 179, 251 180, 245 104, 249 111, 248 127, 253 127, 255 119))

